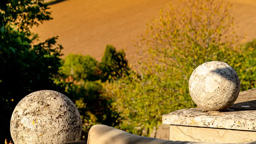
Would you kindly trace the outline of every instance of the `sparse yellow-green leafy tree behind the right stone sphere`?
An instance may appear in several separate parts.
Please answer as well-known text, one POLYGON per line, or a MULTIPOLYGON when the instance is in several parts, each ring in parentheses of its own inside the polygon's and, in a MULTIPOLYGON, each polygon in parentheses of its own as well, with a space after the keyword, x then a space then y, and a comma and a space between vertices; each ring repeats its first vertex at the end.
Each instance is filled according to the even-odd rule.
POLYGON ((255 41, 242 46, 245 37, 235 35, 229 14, 233 6, 215 0, 180 4, 166 13, 161 10, 160 18, 148 23, 137 44, 140 77, 133 72, 106 87, 126 118, 122 128, 129 132, 149 135, 163 114, 195 107, 188 81, 194 69, 207 61, 230 64, 238 72, 241 91, 256 86, 255 41))

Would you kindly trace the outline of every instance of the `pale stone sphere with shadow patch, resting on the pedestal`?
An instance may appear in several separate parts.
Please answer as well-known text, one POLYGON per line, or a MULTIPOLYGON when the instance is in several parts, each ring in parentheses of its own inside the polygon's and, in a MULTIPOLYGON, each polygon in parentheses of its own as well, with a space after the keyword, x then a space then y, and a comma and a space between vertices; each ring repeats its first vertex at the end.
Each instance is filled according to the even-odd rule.
POLYGON ((191 98, 199 108, 206 111, 221 111, 231 107, 239 91, 237 72, 220 61, 199 65, 189 79, 191 98))

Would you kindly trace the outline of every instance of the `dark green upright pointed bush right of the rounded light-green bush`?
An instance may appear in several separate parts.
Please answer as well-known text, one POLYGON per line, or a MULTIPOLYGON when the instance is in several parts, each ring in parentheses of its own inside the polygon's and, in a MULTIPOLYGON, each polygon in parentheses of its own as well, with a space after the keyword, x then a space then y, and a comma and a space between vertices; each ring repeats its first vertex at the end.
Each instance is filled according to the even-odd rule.
POLYGON ((129 70, 124 50, 117 52, 113 45, 106 46, 100 65, 103 72, 102 81, 111 80, 112 77, 120 77, 123 72, 129 70))

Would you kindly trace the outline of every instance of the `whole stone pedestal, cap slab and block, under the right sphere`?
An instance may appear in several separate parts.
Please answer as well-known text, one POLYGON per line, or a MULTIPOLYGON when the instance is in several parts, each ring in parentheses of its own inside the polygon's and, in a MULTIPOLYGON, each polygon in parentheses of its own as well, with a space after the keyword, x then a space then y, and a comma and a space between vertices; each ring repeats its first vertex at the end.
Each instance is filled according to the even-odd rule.
POLYGON ((256 88, 240 92, 236 102, 225 111, 182 109, 163 115, 163 124, 171 125, 172 141, 256 141, 256 88))

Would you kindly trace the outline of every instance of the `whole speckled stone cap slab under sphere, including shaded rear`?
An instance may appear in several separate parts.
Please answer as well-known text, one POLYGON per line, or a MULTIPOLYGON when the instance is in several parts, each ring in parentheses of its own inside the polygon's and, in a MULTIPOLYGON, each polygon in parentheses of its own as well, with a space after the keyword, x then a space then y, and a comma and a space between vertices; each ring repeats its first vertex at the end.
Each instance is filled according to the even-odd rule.
POLYGON ((182 109, 163 115, 163 124, 256 131, 256 88, 239 93, 225 111, 182 109))

